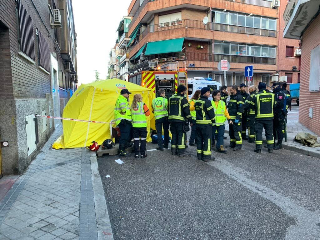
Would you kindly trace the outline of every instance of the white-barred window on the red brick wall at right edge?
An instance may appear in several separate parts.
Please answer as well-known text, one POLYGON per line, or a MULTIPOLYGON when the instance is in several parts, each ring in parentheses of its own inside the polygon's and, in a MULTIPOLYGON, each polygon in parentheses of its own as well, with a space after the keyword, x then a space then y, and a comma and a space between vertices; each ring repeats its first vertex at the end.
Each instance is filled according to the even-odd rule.
POLYGON ((320 45, 311 50, 310 54, 310 82, 309 91, 320 89, 320 45))

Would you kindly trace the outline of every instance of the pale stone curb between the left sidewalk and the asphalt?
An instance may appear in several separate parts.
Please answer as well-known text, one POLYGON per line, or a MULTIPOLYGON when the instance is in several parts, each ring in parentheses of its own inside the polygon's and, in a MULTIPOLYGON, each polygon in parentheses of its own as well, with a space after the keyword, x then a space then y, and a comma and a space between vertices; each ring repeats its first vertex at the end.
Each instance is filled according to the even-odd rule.
POLYGON ((102 187, 102 181, 99 174, 97 156, 95 152, 90 152, 90 162, 91 162, 91 179, 92 179, 93 198, 94 198, 94 206, 95 206, 96 220, 97 220, 98 239, 114 240, 110 218, 109 218, 108 207, 107 207, 106 199, 104 197, 104 190, 102 187))

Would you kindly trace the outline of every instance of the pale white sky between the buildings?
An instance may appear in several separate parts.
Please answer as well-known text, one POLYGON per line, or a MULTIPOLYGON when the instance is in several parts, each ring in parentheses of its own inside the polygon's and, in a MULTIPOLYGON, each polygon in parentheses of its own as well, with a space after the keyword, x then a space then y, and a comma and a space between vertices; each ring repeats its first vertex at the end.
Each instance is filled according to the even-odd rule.
POLYGON ((79 85, 108 75, 111 48, 116 43, 116 30, 128 15, 131 0, 72 1, 77 34, 77 74, 79 85))

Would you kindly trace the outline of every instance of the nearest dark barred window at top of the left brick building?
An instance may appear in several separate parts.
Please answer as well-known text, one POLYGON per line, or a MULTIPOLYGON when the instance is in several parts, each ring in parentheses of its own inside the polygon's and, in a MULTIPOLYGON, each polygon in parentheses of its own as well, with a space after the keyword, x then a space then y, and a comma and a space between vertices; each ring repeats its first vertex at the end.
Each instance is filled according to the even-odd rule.
POLYGON ((19 19, 18 41, 20 44, 20 51, 26 54, 32 60, 35 60, 32 18, 20 1, 18 1, 17 11, 19 19))

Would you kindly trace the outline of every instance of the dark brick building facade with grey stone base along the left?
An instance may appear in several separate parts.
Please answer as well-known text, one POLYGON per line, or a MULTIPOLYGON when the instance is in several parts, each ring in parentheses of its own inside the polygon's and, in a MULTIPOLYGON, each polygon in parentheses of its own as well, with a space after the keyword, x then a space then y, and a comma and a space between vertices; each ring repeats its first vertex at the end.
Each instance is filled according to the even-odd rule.
POLYGON ((75 52, 71 0, 0 0, 0 175, 23 172, 60 124, 33 115, 61 116, 75 52))

